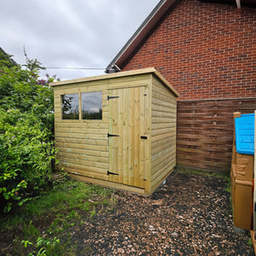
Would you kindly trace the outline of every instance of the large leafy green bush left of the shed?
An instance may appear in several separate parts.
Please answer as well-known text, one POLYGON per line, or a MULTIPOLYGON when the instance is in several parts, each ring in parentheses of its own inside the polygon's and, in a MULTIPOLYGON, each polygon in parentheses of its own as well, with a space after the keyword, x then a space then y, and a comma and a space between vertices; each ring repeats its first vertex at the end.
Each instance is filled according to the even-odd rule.
POLYGON ((0 55, 0 212, 44 186, 56 154, 52 79, 39 83, 40 62, 26 61, 24 70, 0 55))

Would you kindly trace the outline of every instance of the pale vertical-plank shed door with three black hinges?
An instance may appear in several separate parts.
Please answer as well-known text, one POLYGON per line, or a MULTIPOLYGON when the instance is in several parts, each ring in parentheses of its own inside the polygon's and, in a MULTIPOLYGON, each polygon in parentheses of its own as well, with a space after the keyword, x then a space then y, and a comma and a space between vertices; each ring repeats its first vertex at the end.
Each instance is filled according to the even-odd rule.
POLYGON ((109 181, 144 188, 145 86, 109 90, 109 181))

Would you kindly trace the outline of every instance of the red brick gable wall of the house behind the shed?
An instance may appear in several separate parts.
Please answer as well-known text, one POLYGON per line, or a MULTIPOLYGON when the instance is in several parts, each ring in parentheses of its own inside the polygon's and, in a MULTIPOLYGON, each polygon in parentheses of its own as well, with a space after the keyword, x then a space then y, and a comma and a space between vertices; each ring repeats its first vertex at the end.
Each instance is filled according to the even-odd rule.
POLYGON ((181 1, 123 70, 143 67, 158 69, 179 100, 255 97, 256 9, 181 1))

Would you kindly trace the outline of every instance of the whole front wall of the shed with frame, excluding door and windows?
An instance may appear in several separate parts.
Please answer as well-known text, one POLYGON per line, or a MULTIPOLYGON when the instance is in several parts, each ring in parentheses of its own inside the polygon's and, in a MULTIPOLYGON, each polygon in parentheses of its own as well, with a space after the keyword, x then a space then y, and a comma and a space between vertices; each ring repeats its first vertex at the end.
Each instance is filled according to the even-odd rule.
MULTIPOLYGON (((151 88, 150 74, 137 74, 118 77, 116 79, 91 80, 79 83, 55 85, 55 146, 59 148, 57 170, 64 167, 65 171, 77 177, 95 181, 102 185, 123 188, 122 184, 111 183, 109 179, 109 101, 110 90, 145 86, 151 88), (102 91, 102 119, 81 120, 61 119, 61 96, 90 91, 102 91), (87 177, 87 179, 86 179, 87 177), (94 178, 94 179, 91 179, 94 178), (102 181, 100 181, 102 180, 102 181)), ((143 87, 141 87, 143 88, 143 87)), ((148 93, 150 98, 151 93, 148 93)), ((149 100, 148 103, 149 104, 149 100)), ((146 108, 146 107, 145 107, 146 108)), ((146 108, 149 118, 149 107, 146 108)), ((150 126, 146 119, 146 123, 150 126)), ((150 131, 150 127, 148 128, 150 131)), ((147 147, 148 150, 149 147, 147 147)), ((147 151, 146 150, 146 151, 147 151)), ((147 151, 149 154, 149 150, 147 151)), ((147 155, 147 154, 146 154, 147 155)), ((145 162, 146 177, 149 177, 148 156, 145 162)), ((113 172, 113 171, 112 171, 113 172)), ((146 190, 150 187, 147 179, 146 190)), ((128 189, 129 190, 129 189, 128 189)), ((143 189, 131 189, 143 193, 143 189)))

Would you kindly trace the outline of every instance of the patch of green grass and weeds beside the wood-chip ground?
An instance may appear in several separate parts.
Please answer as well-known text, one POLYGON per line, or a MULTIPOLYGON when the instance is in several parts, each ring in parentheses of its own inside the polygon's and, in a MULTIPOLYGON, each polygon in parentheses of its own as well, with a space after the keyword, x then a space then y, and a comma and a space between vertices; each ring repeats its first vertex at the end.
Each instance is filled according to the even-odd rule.
POLYGON ((0 241, 6 255, 75 255, 72 233, 114 205, 113 190, 68 177, 15 213, 0 217, 0 241), (8 236, 6 236, 8 234, 8 236), (10 241, 12 241, 10 243, 10 241))

